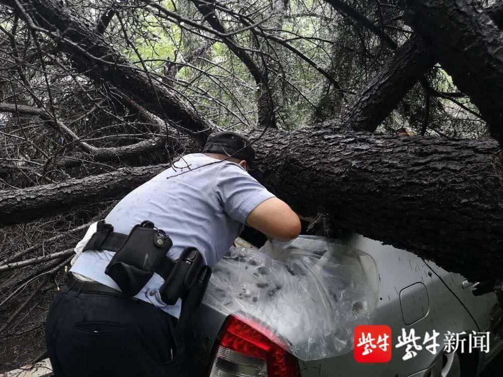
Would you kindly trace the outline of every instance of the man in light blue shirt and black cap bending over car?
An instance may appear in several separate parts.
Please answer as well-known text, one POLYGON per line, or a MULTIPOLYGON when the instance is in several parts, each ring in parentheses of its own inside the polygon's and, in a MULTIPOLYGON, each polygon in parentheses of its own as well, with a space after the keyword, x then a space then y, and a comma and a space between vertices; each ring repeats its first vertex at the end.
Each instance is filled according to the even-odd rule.
POLYGON ((177 328, 243 224, 298 236, 297 215, 246 172, 254 160, 239 134, 212 134, 89 228, 47 317, 56 377, 170 375, 177 328))

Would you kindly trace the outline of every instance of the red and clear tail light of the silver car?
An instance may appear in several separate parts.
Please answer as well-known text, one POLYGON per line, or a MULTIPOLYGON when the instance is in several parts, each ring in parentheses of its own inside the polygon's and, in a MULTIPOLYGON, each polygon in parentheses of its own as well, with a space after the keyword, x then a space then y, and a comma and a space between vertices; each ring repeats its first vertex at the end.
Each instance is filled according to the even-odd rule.
POLYGON ((238 317, 225 321, 213 350, 210 377, 300 376, 297 359, 266 329, 238 317))

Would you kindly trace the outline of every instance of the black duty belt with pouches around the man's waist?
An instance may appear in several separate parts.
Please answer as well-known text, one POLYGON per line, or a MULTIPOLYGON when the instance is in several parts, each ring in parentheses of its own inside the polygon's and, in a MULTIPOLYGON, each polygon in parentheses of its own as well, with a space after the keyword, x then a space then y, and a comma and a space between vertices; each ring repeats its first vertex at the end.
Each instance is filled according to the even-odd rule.
POLYGON ((155 273, 164 283, 159 289, 161 300, 166 305, 175 305, 182 299, 182 311, 189 303, 192 309, 199 306, 211 268, 195 247, 187 247, 177 261, 167 257, 173 242, 162 229, 155 228, 145 220, 133 227, 128 235, 114 232, 111 224, 101 220, 96 232, 83 248, 86 250, 109 250, 115 252, 105 273, 119 286, 121 292, 136 296, 155 273))

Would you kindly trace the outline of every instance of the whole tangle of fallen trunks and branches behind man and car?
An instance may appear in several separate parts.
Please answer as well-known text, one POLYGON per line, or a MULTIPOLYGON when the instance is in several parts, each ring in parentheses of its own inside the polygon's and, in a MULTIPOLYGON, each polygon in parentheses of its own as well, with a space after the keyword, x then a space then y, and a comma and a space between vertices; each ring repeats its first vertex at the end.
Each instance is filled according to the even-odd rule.
POLYGON ((299 214, 501 278, 502 15, 472 0, 0 0, 0 333, 63 279, 70 253, 46 254, 221 129, 251 137, 252 174, 299 214))

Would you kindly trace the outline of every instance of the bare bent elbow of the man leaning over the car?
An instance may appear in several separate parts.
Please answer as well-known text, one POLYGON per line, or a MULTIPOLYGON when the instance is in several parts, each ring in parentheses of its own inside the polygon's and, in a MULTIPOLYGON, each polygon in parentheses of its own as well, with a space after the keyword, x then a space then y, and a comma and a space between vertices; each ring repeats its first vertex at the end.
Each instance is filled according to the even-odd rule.
POLYGON ((279 241, 290 241, 300 233, 299 217, 278 198, 269 198, 259 204, 249 213, 246 224, 279 241))

